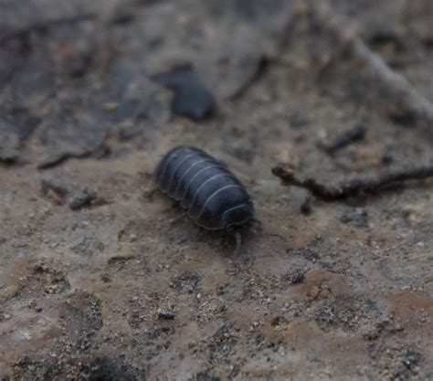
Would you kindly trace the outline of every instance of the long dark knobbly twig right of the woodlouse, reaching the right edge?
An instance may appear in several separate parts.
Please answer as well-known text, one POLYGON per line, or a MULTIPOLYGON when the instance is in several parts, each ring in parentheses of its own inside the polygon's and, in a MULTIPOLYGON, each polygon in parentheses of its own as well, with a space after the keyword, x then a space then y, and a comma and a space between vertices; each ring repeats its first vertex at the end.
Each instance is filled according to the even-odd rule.
POLYGON ((313 178, 300 179, 287 166, 279 164, 272 168, 272 174, 280 177, 282 185, 294 185, 307 189, 323 201, 344 200, 362 193, 375 193, 385 185, 408 180, 422 180, 433 177, 433 165, 424 165, 376 175, 372 178, 354 178, 338 186, 326 186, 313 178))

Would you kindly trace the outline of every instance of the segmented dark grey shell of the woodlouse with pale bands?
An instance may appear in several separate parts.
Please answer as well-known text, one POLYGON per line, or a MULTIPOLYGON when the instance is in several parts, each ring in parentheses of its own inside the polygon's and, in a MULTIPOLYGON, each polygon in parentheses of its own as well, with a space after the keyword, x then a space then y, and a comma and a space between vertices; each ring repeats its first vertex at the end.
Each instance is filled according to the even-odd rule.
POLYGON ((195 224, 208 230, 244 225, 254 217, 245 187, 199 148, 178 146, 166 153, 154 180, 164 193, 180 201, 195 224))

